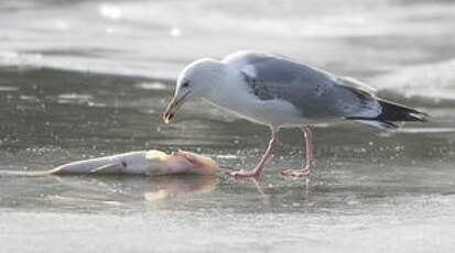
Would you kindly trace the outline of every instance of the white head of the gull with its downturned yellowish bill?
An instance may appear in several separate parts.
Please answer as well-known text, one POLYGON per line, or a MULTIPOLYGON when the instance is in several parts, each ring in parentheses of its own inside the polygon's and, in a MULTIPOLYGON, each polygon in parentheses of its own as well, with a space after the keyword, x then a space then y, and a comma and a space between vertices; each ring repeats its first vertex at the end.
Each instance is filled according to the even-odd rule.
POLYGON ((174 97, 163 113, 164 123, 174 118, 187 99, 209 94, 218 82, 221 69, 223 63, 213 58, 202 58, 186 66, 178 76, 174 97))

